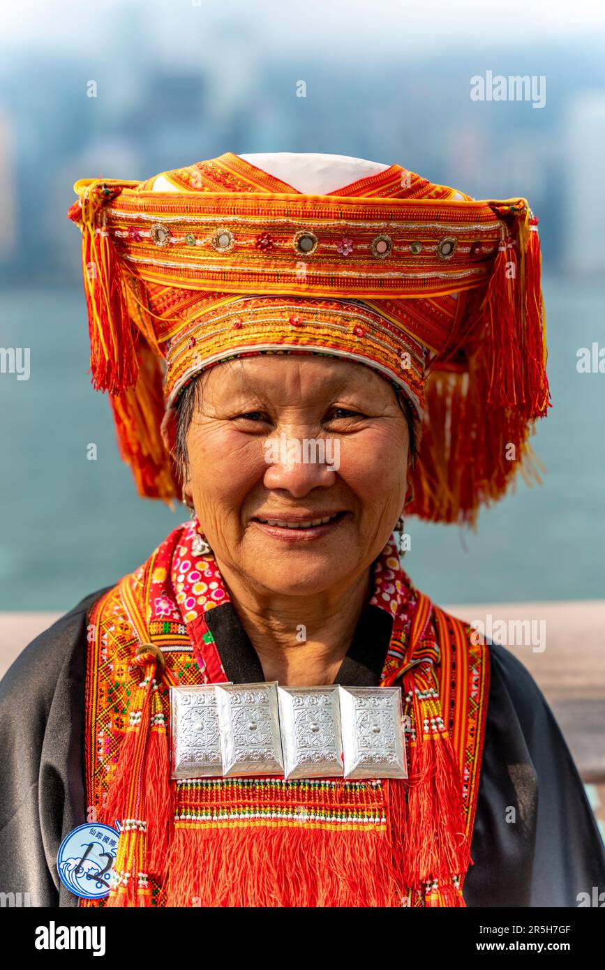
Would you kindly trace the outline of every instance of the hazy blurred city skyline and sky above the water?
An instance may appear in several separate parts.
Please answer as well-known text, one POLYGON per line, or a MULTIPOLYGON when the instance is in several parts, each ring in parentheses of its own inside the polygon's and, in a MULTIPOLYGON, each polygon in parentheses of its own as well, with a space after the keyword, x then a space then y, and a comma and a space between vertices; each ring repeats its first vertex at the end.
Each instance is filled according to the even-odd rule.
MULTIPOLYGON (((370 6, 347 6, 347 43, 363 39, 370 6)), ((424 5, 425 16, 431 7, 424 5)), ((282 20, 290 29, 273 22, 272 0, 258 5, 256 18, 239 3, 226 15, 195 2, 111 0, 103 17, 97 7, 80 4, 77 14, 63 2, 48 19, 41 4, 26 3, 0 44, 0 278, 44 285, 77 278, 79 242, 65 218, 77 178, 148 178, 227 150, 358 155, 398 162, 474 198, 524 195, 540 218, 551 268, 602 271, 605 9, 600 16, 592 7, 582 38, 556 4, 548 5, 539 45, 529 8, 515 44, 500 29, 482 46, 489 17, 475 17, 466 40, 460 30, 472 3, 423 32, 410 4, 385 0, 372 8, 380 41, 372 34, 353 56, 355 45, 325 51, 338 2, 322 8, 325 26, 316 4, 306 16, 289 7, 282 20), (40 15, 32 14, 29 33, 19 29, 28 10, 40 15), (402 51, 393 36, 383 43, 389 17, 402 51), (308 45, 313 24, 317 44, 308 45), (80 43, 68 44, 76 26, 80 43), (446 27, 455 40, 444 49, 446 27), (282 35, 288 43, 274 46, 282 35), (543 77, 544 107, 471 100, 470 79, 488 71, 543 77), (300 81, 305 97, 297 96, 300 81)))

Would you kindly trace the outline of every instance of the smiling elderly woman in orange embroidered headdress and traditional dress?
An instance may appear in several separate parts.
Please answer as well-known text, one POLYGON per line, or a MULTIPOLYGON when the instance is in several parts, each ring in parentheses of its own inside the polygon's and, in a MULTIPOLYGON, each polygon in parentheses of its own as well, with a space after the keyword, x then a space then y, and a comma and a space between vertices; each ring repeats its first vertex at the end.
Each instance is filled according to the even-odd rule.
POLYGON ((141 494, 191 521, 8 674, 3 888, 46 906, 602 889, 544 698, 415 590, 396 539, 402 516, 473 522, 531 473, 550 402, 525 200, 231 152, 76 189, 93 382, 141 494), (97 898, 85 853, 64 877, 80 825, 115 830, 97 898))

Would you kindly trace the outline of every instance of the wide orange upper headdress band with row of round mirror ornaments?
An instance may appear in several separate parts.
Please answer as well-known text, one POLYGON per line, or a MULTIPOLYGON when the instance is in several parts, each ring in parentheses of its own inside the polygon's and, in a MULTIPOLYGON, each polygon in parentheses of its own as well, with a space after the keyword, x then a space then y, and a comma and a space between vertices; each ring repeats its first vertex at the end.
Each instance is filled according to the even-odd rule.
MULTIPOLYGON (((423 297, 488 278, 502 231, 499 205, 123 187, 103 216, 119 257, 148 281, 240 293, 423 297)), ((509 204, 525 207, 523 199, 509 204)))

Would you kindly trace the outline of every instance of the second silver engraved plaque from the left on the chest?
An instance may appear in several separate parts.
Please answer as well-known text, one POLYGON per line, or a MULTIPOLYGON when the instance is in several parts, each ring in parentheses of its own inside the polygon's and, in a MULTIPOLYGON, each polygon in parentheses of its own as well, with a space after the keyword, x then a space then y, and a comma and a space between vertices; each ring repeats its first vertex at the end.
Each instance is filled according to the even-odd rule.
POLYGON ((216 685, 223 775, 283 774, 277 683, 216 685))

